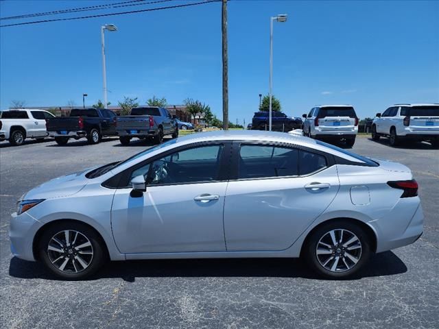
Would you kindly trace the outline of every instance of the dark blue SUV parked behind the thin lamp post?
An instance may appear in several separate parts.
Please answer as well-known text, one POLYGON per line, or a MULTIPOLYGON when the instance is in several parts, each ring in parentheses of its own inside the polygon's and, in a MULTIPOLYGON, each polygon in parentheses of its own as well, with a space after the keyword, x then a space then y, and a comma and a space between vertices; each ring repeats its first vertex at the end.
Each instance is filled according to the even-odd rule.
MULTIPOLYGON (((254 112, 252 130, 268 130, 270 125, 270 113, 265 111, 254 112)), ((275 132, 289 132, 290 130, 302 129, 302 119, 287 117, 287 114, 272 111, 272 130, 275 132)))

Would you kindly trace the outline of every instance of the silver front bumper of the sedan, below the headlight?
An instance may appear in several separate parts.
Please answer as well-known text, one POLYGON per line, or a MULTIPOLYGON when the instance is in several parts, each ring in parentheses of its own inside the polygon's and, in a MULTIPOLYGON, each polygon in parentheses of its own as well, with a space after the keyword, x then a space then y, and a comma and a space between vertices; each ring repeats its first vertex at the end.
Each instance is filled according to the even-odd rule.
POLYGON ((43 226, 43 223, 37 221, 27 212, 11 215, 9 239, 11 252, 14 256, 34 261, 34 236, 36 232, 43 226))

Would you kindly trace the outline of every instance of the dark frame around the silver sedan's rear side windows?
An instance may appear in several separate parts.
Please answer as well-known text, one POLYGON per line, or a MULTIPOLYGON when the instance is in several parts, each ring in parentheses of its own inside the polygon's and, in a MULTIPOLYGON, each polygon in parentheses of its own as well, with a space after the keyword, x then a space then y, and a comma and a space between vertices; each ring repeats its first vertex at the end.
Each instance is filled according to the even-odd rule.
MULTIPOLYGON (((329 169, 335 164, 335 159, 332 154, 327 154, 326 152, 319 151, 318 149, 312 149, 311 147, 305 147, 302 145, 292 145, 289 143, 282 142, 261 142, 261 141, 233 141, 232 143, 232 156, 230 159, 230 176, 229 182, 239 182, 239 181, 248 181, 248 180, 281 180, 283 178, 304 178, 309 177, 311 175, 315 175, 316 173, 320 173, 320 171, 324 171, 329 169), (327 166, 323 167, 319 170, 313 171, 312 173, 307 173, 306 175, 287 175, 287 176, 270 176, 270 177, 260 177, 260 178, 239 178, 239 150, 241 149, 241 145, 260 145, 260 146, 269 146, 269 147, 287 147, 289 149, 297 149, 298 151, 307 151, 309 153, 318 154, 323 156, 327 160, 327 166)), ((298 171, 299 173, 299 171, 298 171)))

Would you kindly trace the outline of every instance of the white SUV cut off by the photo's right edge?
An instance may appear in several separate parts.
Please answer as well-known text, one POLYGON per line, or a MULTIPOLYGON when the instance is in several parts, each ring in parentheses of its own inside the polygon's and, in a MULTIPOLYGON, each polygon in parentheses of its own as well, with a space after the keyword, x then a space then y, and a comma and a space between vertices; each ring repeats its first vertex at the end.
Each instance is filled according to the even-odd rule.
POLYGON ((403 141, 428 141, 439 147, 439 104, 396 104, 372 123, 372 139, 389 137, 390 145, 403 141))

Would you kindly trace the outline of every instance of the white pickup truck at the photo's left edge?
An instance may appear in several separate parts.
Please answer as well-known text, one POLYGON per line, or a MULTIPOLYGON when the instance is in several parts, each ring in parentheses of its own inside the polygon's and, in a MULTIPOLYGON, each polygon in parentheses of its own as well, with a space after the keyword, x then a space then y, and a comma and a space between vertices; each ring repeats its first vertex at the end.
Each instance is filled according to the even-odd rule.
POLYGON ((44 110, 3 110, 0 112, 0 141, 8 139, 12 145, 22 145, 26 138, 43 141, 47 137, 46 120, 54 117, 44 110))

